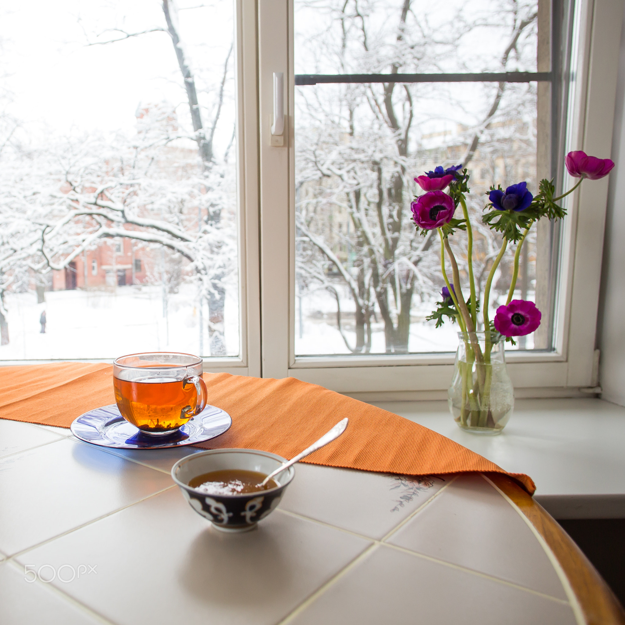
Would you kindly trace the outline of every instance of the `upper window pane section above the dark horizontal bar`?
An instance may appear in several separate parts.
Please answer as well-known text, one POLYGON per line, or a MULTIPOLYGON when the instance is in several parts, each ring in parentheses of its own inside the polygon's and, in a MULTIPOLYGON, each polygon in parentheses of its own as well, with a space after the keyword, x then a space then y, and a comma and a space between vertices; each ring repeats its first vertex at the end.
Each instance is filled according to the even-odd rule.
POLYGON ((536 71, 537 0, 295 0, 296 74, 536 71))

